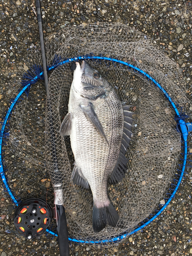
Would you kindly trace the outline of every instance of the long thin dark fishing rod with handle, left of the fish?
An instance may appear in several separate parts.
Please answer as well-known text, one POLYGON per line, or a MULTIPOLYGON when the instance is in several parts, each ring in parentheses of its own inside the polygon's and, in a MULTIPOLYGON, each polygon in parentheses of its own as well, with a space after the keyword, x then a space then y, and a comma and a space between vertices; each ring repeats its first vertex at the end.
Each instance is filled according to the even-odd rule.
POLYGON ((39 27, 39 37, 40 37, 40 47, 41 47, 41 55, 42 55, 42 66, 44 69, 44 78, 45 78, 45 87, 46 87, 46 94, 47 94, 47 104, 48 104, 48 111, 49 111, 49 124, 50 124, 50 131, 51 131, 51 147, 53 152, 53 159, 54 159, 54 173, 55 177, 53 178, 53 188, 54 188, 54 204, 55 204, 55 218, 57 224, 57 233, 58 233, 58 244, 59 244, 59 252, 60 256, 69 256, 69 240, 68 240, 68 230, 67 230, 67 220, 66 220, 66 213, 65 208, 63 207, 62 200, 62 174, 58 168, 58 161, 57 161, 57 152, 55 146, 55 132, 52 123, 52 108, 51 108, 51 100, 49 94, 49 87, 48 87, 48 72, 47 72, 47 60, 46 60, 46 52, 45 52, 45 43, 44 43, 44 33, 42 30, 42 17, 41 17, 41 10, 40 10, 40 0, 36 0, 36 10, 37 10, 37 22, 39 27), (59 195, 59 197, 58 197, 59 195))

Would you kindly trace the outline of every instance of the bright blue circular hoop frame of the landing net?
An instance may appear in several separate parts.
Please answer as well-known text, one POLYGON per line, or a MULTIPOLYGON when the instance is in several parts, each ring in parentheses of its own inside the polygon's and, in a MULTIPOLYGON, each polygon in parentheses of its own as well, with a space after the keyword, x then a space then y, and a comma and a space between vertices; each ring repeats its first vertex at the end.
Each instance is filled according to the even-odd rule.
MULTIPOLYGON (((161 215, 162 211, 166 208, 166 206, 170 203, 170 201, 175 197, 176 191, 178 190, 178 187, 180 186, 182 182, 182 178, 184 177, 185 174, 185 167, 192 167, 191 165, 187 164, 187 161, 190 161, 187 159, 187 155, 190 153, 187 153, 187 136, 188 132, 192 131, 192 125, 191 123, 186 123, 185 118, 187 115, 185 115, 181 111, 179 112, 179 105, 168 95, 168 93, 163 89, 163 87, 150 75, 148 75, 146 72, 143 70, 131 65, 129 62, 124 62, 118 59, 114 59, 111 57, 104 57, 104 56, 94 56, 93 54, 88 54, 84 56, 76 56, 73 58, 68 58, 68 59, 61 59, 61 57, 58 57, 55 55, 55 58, 53 60, 53 64, 51 66, 48 66, 47 69, 48 71, 52 71, 55 68, 65 65, 66 63, 70 63, 73 61, 77 60, 83 60, 83 59, 92 59, 93 61, 105 61, 106 66, 108 66, 109 61, 113 63, 114 67, 116 67, 117 63, 120 65, 120 67, 126 67, 127 69, 133 70, 135 73, 142 75, 144 78, 148 79, 148 81, 151 81, 152 84, 154 84, 155 87, 158 87, 160 91, 164 94, 166 99, 170 102, 172 105, 173 109, 175 110, 176 116, 175 120, 177 121, 177 130, 178 132, 181 133, 182 136, 182 149, 183 153, 181 153, 182 158, 182 164, 179 164, 179 169, 177 169, 179 174, 176 174, 176 179, 174 179, 174 183, 171 184, 172 188, 169 188, 169 192, 167 193, 166 196, 167 198, 164 198, 165 204, 160 204, 159 209, 155 210, 155 214, 150 215, 147 219, 142 221, 137 228, 135 228, 131 232, 124 232, 123 234, 119 234, 118 237, 108 239, 108 240, 102 240, 102 241, 83 241, 83 240, 77 240, 75 238, 70 238, 69 241, 77 242, 77 243, 88 243, 88 244, 99 244, 99 243, 115 243, 118 242, 122 239, 124 239, 127 236, 130 236, 133 233, 136 233, 137 231, 143 229, 145 226, 150 224, 153 220, 155 220, 159 215, 161 215), (178 129, 180 127, 180 129, 178 129)), ((11 113, 15 109, 16 104, 18 104, 21 100, 23 100, 22 95, 25 93, 27 96, 29 95, 30 92, 30 87, 32 84, 36 83, 39 79, 44 79, 44 72, 42 71, 42 67, 33 65, 26 73, 23 75, 23 80, 21 82, 22 84, 22 89, 18 90, 18 95, 10 101, 11 105, 9 107, 9 110, 7 111, 6 117, 4 118, 4 121, 2 123, 2 130, 0 131, 0 174, 1 178, 3 181, 3 187, 4 190, 9 193, 9 196, 12 199, 12 202, 14 203, 15 206, 18 206, 20 202, 20 198, 15 196, 14 191, 11 191, 9 187, 9 183, 6 177, 6 166, 4 164, 4 157, 3 157, 3 146, 6 145, 6 141, 8 140, 9 136, 9 120, 11 118, 11 113)), ((57 236, 57 233, 55 230, 51 230, 51 227, 48 228, 47 233, 52 234, 53 236, 57 236)))

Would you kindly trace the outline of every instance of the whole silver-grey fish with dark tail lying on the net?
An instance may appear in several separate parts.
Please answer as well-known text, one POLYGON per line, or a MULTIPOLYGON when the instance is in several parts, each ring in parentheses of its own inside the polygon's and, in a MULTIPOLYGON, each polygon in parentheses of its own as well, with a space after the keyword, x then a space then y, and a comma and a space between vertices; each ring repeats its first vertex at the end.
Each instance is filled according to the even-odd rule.
POLYGON ((108 195, 108 184, 117 184, 127 169, 125 153, 131 141, 133 112, 115 89, 86 61, 75 62, 68 114, 60 135, 70 135, 74 154, 74 185, 91 188, 94 232, 116 227, 119 216, 108 195))

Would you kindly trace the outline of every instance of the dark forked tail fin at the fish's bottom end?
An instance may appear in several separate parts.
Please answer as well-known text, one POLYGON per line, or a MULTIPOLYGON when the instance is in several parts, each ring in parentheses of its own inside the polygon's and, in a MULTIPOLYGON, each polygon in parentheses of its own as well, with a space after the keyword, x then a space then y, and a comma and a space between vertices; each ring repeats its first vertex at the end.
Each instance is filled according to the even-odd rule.
POLYGON ((95 233, 101 231, 105 228, 106 224, 115 227, 119 220, 119 216, 115 207, 113 206, 110 199, 106 202, 106 204, 102 204, 101 206, 98 203, 93 204, 93 230, 95 233))

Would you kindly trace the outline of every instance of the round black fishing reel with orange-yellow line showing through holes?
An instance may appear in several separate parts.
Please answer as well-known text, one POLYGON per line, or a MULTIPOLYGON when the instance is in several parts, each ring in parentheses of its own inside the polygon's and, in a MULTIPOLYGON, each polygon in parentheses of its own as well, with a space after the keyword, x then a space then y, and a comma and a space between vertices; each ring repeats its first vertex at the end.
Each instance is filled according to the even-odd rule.
POLYGON ((52 219, 52 208, 42 199, 28 199, 19 204, 14 214, 14 225, 20 236, 28 239, 46 232, 52 219))

